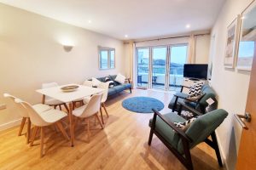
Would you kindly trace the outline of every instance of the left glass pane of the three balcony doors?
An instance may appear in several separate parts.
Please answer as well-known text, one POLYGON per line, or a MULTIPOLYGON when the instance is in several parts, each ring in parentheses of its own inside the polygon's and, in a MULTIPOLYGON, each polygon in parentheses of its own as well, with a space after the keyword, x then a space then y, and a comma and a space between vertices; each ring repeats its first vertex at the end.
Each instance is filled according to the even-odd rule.
POLYGON ((137 87, 148 88, 149 48, 137 48, 137 87))

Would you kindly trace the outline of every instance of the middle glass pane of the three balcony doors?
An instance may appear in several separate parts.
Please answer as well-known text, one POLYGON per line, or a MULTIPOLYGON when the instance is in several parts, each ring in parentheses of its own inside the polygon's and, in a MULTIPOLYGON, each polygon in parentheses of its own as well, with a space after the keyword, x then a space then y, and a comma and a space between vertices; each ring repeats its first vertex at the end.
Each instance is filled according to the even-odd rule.
POLYGON ((166 47, 152 48, 152 88, 166 89, 166 47))

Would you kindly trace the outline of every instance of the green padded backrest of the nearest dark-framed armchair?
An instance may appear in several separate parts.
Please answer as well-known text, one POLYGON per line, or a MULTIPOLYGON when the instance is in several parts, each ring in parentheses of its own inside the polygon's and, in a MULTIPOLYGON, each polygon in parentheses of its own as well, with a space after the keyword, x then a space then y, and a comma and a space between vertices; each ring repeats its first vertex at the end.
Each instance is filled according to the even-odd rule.
MULTIPOLYGON (((189 144, 189 148, 193 148, 195 145, 203 142, 207 139, 215 129, 224 122, 224 119, 228 116, 228 112, 223 109, 211 111, 205 115, 199 116, 195 122, 192 122, 187 129, 186 134, 193 140, 189 144)), ((177 144, 177 150, 183 153, 183 144, 181 139, 177 144)))

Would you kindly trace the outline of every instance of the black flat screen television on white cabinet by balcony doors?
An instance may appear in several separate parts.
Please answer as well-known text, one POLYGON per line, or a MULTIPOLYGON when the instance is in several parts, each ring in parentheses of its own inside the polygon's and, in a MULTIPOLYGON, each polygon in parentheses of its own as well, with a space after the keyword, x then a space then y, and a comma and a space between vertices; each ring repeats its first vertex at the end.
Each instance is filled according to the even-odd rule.
POLYGON ((207 80, 207 71, 208 71, 208 65, 185 64, 184 71, 183 71, 183 77, 207 80))

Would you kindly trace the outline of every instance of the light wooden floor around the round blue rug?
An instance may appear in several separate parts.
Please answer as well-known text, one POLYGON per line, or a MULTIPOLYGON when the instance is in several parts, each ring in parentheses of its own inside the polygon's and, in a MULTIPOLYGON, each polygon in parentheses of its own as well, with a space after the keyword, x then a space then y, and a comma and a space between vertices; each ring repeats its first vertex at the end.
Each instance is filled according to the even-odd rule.
MULTIPOLYGON (((39 158, 39 140, 30 147, 25 134, 17 136, 19 127, 10 128, 0 132, 0 169, 185 169, 155 136, 148 146, 148 120, 153 114, 126 111, 122 100, 132 96, 160 99, 166 105, 161 112, 170 111, 170 93, 139 89, 132 94, 124 92, 108 100, 109 118, 104 116, 103 130, 90 120, 90 141, 84 125, 76 128, 74 147, 54 127, 47 129, 43 158, 39 158)), ((207 144, 195 147, 192 159, 195 169, 219 169, 215 153, 207 144)))

